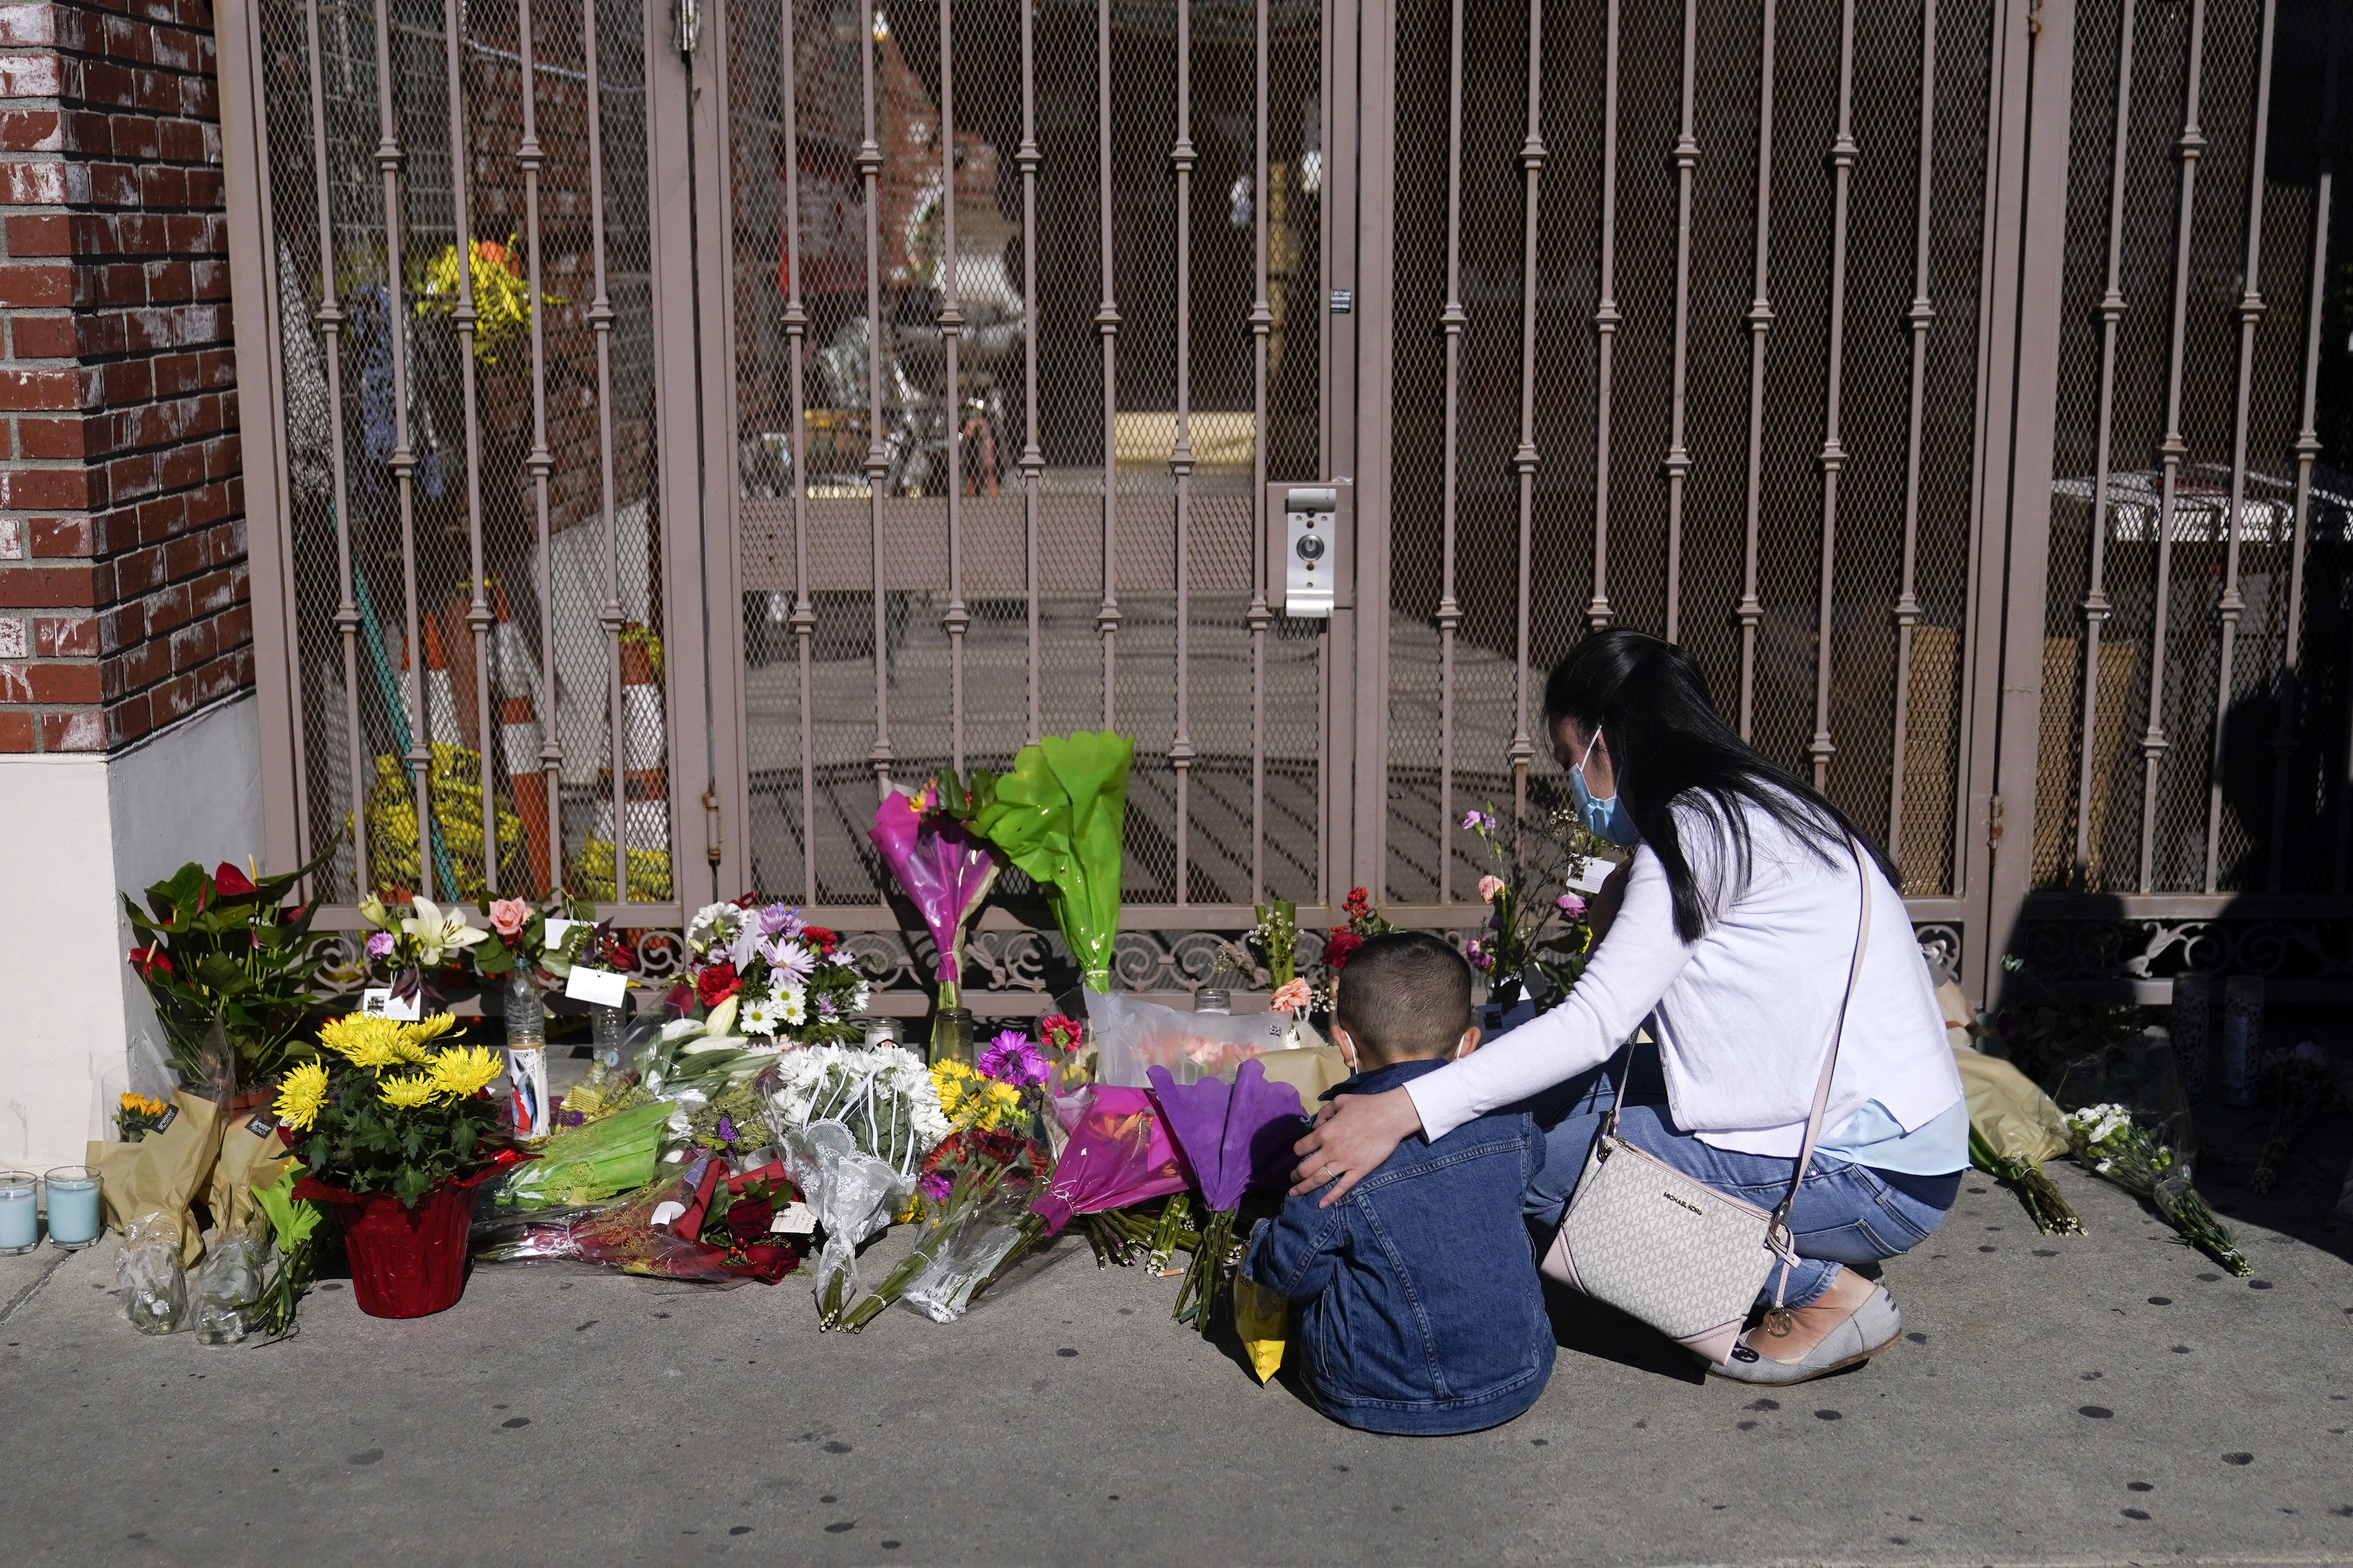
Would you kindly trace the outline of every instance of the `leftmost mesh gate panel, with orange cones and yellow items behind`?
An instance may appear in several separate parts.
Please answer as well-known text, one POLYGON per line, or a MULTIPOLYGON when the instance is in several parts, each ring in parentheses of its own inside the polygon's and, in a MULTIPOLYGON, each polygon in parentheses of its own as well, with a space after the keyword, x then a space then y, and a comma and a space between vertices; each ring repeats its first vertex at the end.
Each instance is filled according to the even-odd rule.
POLYGON ((666 900, 642 7, 259 24, 320 891, 666 900))

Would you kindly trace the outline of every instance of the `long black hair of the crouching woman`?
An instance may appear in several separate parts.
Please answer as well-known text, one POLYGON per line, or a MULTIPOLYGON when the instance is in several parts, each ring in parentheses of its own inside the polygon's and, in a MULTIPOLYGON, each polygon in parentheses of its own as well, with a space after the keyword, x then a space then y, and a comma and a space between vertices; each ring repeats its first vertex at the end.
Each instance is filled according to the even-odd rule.
POLYGON ((1697 943, 1715 919, 1675 832, 1671 806, 1685 795, 1701 797, 1685 804, 1701 804, 1718 820, 1739 879, 1748 877, 1751 853, 1744 806, 1755 806, 1833 865, 1847 858, 1845 839, 1852 837, 1892 886, 1904 886, 1845 811, 1732 733, 1708 703, 1699 665, 1673 642, 1628 630, 1593 632, 1544 682, 1544 719, 1546 729, 1574 719, 1588 736, 1607 736, 1619 799, 1666 867, 1675 933, 1685 943, 1697 943))

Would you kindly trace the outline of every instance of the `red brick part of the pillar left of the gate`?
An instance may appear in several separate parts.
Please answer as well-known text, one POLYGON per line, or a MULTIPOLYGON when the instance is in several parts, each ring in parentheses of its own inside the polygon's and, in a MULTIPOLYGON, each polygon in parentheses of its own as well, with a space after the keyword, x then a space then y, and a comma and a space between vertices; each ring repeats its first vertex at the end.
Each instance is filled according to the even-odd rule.
POLYGON ((0 752, 252 686, 207 0, 0 0, 0 752))

